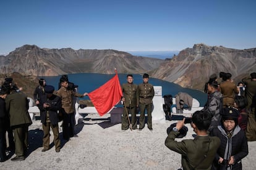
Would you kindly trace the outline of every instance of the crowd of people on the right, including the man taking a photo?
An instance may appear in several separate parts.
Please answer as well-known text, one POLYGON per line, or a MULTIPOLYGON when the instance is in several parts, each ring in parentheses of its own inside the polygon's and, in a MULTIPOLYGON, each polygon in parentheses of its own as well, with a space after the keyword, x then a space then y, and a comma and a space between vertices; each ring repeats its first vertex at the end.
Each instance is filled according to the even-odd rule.
POLYGON ((165 145, 181 153, 183 169, 242 169, 241 160, 248 155, 247 141, 256 140, 256 73, 242 79, 244 92, 230 73, 221 72, 220 78, 210 76, 205 86, 207 103, 192 115, 195 139, 174 140, 184 120, 166 138, 165 145))

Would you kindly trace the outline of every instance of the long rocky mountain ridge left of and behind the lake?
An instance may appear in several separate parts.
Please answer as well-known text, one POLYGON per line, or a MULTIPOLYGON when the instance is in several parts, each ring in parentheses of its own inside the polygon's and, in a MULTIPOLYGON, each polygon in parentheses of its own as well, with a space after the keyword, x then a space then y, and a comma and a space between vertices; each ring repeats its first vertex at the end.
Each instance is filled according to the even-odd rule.
POLYGON ((145 73, 158 68, 164 60, 136 57, 114 50, 41 49, 25 45, 0 56, 1 73, 54 76, 68 73, 145 73))

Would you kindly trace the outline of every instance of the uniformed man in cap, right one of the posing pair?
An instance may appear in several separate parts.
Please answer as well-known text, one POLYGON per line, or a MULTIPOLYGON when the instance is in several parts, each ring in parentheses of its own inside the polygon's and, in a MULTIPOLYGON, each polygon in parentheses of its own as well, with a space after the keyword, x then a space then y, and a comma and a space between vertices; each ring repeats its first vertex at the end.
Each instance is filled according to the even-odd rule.
POLYGON ((150 131, 152 128, 152 105, 153 97, 155 95, 154 87, 152 84, 148 83, 149 75, 145 73, 143 75, 143 83, 138 85, 138 95, 139 95, 139 105, 140 105, 140 126, 139 131, 141 131, 145 126, 145 110, 147 109, 148 114, 148 129, 150 131))

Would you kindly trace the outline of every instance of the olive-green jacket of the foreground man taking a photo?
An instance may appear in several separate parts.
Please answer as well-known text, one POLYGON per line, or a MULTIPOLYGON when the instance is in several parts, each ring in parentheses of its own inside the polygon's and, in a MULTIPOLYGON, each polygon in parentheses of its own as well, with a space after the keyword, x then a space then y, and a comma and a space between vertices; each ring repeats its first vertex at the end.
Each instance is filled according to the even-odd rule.
POLYGON ((179 132, 171 131, 165 140, 165 145, 170 150, 182 155, 182 168, 190 169, 211 169, 220 139, 218 137, 197 136, 195 139, 182 140, 177 142, 174 140, 179 132))

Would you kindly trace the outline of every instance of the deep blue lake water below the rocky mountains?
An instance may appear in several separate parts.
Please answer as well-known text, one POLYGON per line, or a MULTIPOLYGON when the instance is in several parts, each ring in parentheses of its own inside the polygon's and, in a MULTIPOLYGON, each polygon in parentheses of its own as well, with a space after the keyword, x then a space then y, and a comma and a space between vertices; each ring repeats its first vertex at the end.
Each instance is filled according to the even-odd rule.
MULTIPOLYGON (((114 75, 96 73, 77 73, 68 75, 69 81, 79 86, 79 93, 92 92, 106 83, 106 81, 113 78, 113 76, 114 75)), ((135 84, 143 83, 142 75, 133 76, 135 84)), ((121 84, 126 83, 126 74, 118 74, 118 77, 121 84)), ((47 76, 42 78, 46 79, 46 84, 52 85, 55 87, 55 89, 58 89, 59 78, 61 78, 61 76, 47 76)), ((153 84, 154 86, 162 86, 163 95, 171 94, 174 96, 178 92, 186 92, 187 94, 197 99, 198 102, 200 102, 200 106, 205 105, 205 102, 207 101, 207 94, 201 91, 186 89, 177 84, 169 83, 168 81, 163 81, 156 78, 150 78, 149 83, 153 84)), ((88 99, 88 97, 84 97, 83 99, 88 99)))

